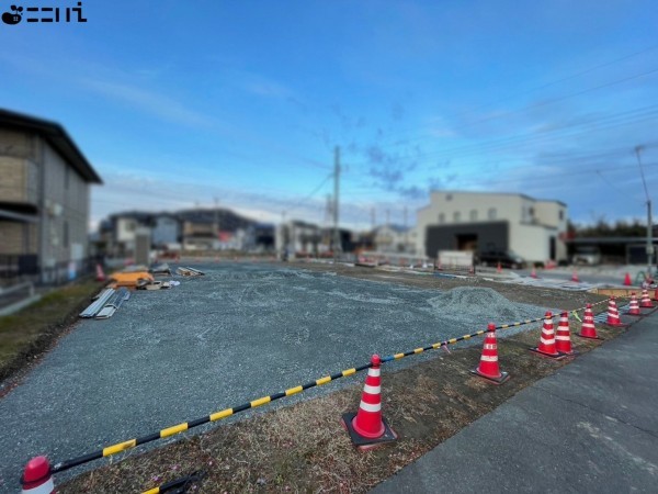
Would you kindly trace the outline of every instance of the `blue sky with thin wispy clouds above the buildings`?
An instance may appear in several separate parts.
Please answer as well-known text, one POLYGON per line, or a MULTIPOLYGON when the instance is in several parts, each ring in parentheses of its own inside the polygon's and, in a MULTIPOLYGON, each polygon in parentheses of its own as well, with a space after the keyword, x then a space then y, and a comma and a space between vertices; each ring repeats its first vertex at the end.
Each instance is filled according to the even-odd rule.
POLYGON ((650 0, 83 0, 86 23, 21 1, 0 10, 63 13, 0 23, 0 106, 67 128, 104 181, 92 227, 215 204, 326 224, 336 147, 347 227, 412 225, 436 189, 646 218, 638 156, 658 201, 650 0))

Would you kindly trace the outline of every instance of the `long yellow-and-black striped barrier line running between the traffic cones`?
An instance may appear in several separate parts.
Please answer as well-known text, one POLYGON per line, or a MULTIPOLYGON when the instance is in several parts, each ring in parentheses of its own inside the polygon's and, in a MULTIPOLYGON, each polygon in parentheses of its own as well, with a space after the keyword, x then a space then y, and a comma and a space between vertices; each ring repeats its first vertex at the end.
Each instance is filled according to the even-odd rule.
MULTIPOLYGON (((608 302, 609 300, 610 299, 603 300, 601 302, 597 302, 597 303, 591 304, 591 305, 599 305, 601 303, 608 302)), ((569 311, 569 312, 570 313, 576 313, 578 311, 583 311, 585 308, 586 307, 580 307, 580 308, 576 308, 575 311, 569 311)), ((558 315, 556 314, 554 317, 557 317, 557 316, 558 315)), ((525 321, 522 321, 522 322, 519 322, 519 323, 503 324, 503 325, 500 325, 500 326, 496 326, 496 328, 491 329, 491 330, 507 329, 507 328, 510 328, 510 327, 523 326, 525 324, 532 324, 532 323, 536 323, 536 322, 540 322, 540 321, 543 321, 543 319, 544 319, 544 317, 537 317, 535 319, 525 319, 525 321)), ((485 333, 488 333, 489 330, 490 329, 481 329, 479 332, 472 333, 470 335, 464 335, 464 336, 460 336, 458 338, 446 339, 444 341, 435 343, 435 344, 429 345, 427 347, 416 348, 413 350, 409 350, 409 351, 406 351, 406 352, 402 352, 402 353, 395 353, 395 355, 392 355, 392 356, 382 357, 382 363, 389 362, 389 361, 393 361, 393 360, 399 360, 401 358, 409 357, 409 356, 412 356, 412 355, 422 353, 423 351, 435 350, 435 349, 439 349, 441 347, 447 347, 449 345, 454 345, 454 344, 457 344, 460 341, 464 341, 466 339, 474 338, 476 336, 481 336, 485 333)), ((295 386, 295 388, 288 388, 287 390, 282 391, 280 393, 274 393, 274 394, 271 394, 269 396, 263 396, 263 397, 260 397, 258 400, 253 400, 251 402, 247 402, 247 403, 243 403, 241 405, 235 406, 232 408, 225 408, 223 411, 215 412, 215 413, 206 415, 204 417, 200 417, 200 418, 197 418, 195 420, 184 422, 184 423, 171 426, 171 427, 167 427, 164 429, 159 430, 158 433, 152 433, 152 434, 149 434, 149 435, 146 435, 146 436, 141 436, 141 437, 137 437, 137 438, 134 438, 134 439, 129 439, 127 441, 117 442, 115 445, 111 445, 111 446, 104 447, 104 448, 99 449, 97 451, 93 451, 91 453, 83 454, 83 456, 73 458, 71 460, 66 460, 66 461, 63 461, 63 462, 59 462, 59 463, 55 463, 52 467, 50 472, 52 473, 64 472, 65 470, 69 470, 71 468, 73 468, 73 467, 78 467, 78 465, 83 464, 83 463, 89 463, 90 461, 99 460, 99 459, 104 458, 104 457, 110 457, 112 454, 116 454, 116 453, 120 453, 122 451, 126 451, 126 450, 135 448, 137 446, 146 445, 147 442, 152 442, 152 441, 158 440, 158 439, 163 439, 163 438, 167 438, 167 437, 170 437, 170 436, 174 436, 177 434, 183 433, 183 431, 192 429, 194 427, 198 427, 201 425, 208 424, 211 422, 220 420, 223 418, 230 417, 231 415, 236 415, 236 414, 238 414, 240 412, 245 412, 245 411, 250 409, 250 408, 257 408, 259 406, 265 405, 265 404, 274 402, 276 400, 281 400, 281 398, 286 397, 286 396, 292 396, 294 394, 300 393, 300 392, 306 391, 308 389, 316 388, 316 386, 321 386, 322 384, 327 384, 328 382, 336 381, 336 380, 338 380, 340 378, 347 378, 348 375, 352 375, 352 374, 355 374, 356 372, 361 372, 361 371, 364 371, 366 369, 370 369, 372 366, 373 364, 371 362, 368 362, 368 363, 366 363, 364 366, 361 366, 361 367, 355 367, 355 368, 352 368, 352 369, 347 369, 347 370, 344 370, 342 372, 337 372, 337 373, 333 373, 333 374, 330 374, 330 375, 326 375, 324 378, 317 379, 315 381, 307 382, 306 384, 302 384, 302 385, 298 385, 298 386, 295 386)))

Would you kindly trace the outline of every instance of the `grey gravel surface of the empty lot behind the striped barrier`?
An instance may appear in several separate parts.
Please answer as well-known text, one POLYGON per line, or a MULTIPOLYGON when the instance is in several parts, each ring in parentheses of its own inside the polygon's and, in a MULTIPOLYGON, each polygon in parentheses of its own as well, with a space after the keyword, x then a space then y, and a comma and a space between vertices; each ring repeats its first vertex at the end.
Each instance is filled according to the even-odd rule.
MULTIPOLYGON (((266 265, 191 266, 207 276, 136 292, 111 319, 81 322, 0 401, 0 492, 15 492, 33 456, 63 461, 360 366, 373 352, 545 310, 489 288, 440 292, 266 265)), ((353 379, 362 378, 343 384, 353 379)))

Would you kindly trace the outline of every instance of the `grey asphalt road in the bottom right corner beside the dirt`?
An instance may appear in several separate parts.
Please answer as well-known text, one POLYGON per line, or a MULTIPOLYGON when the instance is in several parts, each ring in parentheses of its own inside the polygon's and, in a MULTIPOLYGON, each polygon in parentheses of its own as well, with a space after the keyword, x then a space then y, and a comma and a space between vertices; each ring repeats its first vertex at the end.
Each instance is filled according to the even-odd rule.
POLYGON ((655 313, 372 493, 657 492, 657 355, 655 313))

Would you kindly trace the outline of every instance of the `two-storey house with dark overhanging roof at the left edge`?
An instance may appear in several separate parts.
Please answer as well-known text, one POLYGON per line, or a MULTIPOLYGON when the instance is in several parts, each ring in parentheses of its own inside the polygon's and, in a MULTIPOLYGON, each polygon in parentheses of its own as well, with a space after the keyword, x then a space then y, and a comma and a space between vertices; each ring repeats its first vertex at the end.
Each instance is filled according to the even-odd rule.
POLYGON ((61 125, 0 110, 0 272, 50 283, 87 270, 93 184, 61 125))

